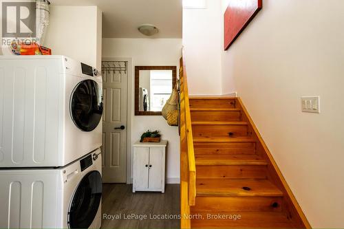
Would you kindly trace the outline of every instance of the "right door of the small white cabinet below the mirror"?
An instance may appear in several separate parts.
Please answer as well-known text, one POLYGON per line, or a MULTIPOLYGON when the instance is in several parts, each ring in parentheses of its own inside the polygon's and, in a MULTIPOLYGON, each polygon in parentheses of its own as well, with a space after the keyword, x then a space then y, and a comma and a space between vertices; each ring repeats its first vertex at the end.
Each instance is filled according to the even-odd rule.
POLYGON ((149 189, 162 188, 164 167, 163 149, 152 147, 149 153, 149 189))

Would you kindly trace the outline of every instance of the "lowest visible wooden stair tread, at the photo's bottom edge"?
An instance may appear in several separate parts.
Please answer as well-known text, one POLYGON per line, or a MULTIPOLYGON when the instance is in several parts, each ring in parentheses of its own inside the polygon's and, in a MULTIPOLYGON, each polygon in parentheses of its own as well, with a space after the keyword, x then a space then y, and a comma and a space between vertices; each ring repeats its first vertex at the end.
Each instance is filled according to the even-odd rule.
POLYGON ((203 219, 191 219, 192 228, 298 228, 283 212, 213 212, 211 216, 240 215, 240 219, 211 219, 209 212, 192 212, 203 219))

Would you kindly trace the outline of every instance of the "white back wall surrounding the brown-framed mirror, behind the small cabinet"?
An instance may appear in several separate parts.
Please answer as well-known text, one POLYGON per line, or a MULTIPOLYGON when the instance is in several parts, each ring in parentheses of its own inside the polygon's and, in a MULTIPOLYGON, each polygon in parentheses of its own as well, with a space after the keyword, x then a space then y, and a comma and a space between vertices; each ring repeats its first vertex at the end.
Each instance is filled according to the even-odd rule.
MULTIPOLYGON (((133 67, 139 65, 175 65, 179 68, 182 39, 103 39, 103 57, 133 58, 133 67)), ((162 116, 134 116, 134 80, 131 84, 131 141, 140 135, 158 129, 162 139, 169 140, 166 157, 166 181, 180 179, 180 146, 178 127, 170 127, 162 116)))

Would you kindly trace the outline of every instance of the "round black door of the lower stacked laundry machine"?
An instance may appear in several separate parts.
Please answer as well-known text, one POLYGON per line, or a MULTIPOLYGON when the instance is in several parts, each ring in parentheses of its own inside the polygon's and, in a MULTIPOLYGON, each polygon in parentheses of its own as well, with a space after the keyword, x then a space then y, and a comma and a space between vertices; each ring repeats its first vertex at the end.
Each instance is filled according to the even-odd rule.
POLYGON ((69 207, 69 228, 89 228, 98 212, 102 197, 102 177, 91 171, 83 177, 69 207))

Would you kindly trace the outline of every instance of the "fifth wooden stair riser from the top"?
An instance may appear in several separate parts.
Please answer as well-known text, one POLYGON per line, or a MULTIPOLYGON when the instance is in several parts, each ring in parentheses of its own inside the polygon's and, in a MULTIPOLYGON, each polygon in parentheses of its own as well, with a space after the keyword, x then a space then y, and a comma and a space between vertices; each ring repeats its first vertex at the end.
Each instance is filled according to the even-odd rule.
POLYGON ((197 178, 266 179, 266 166, 196 166, 197 178))

